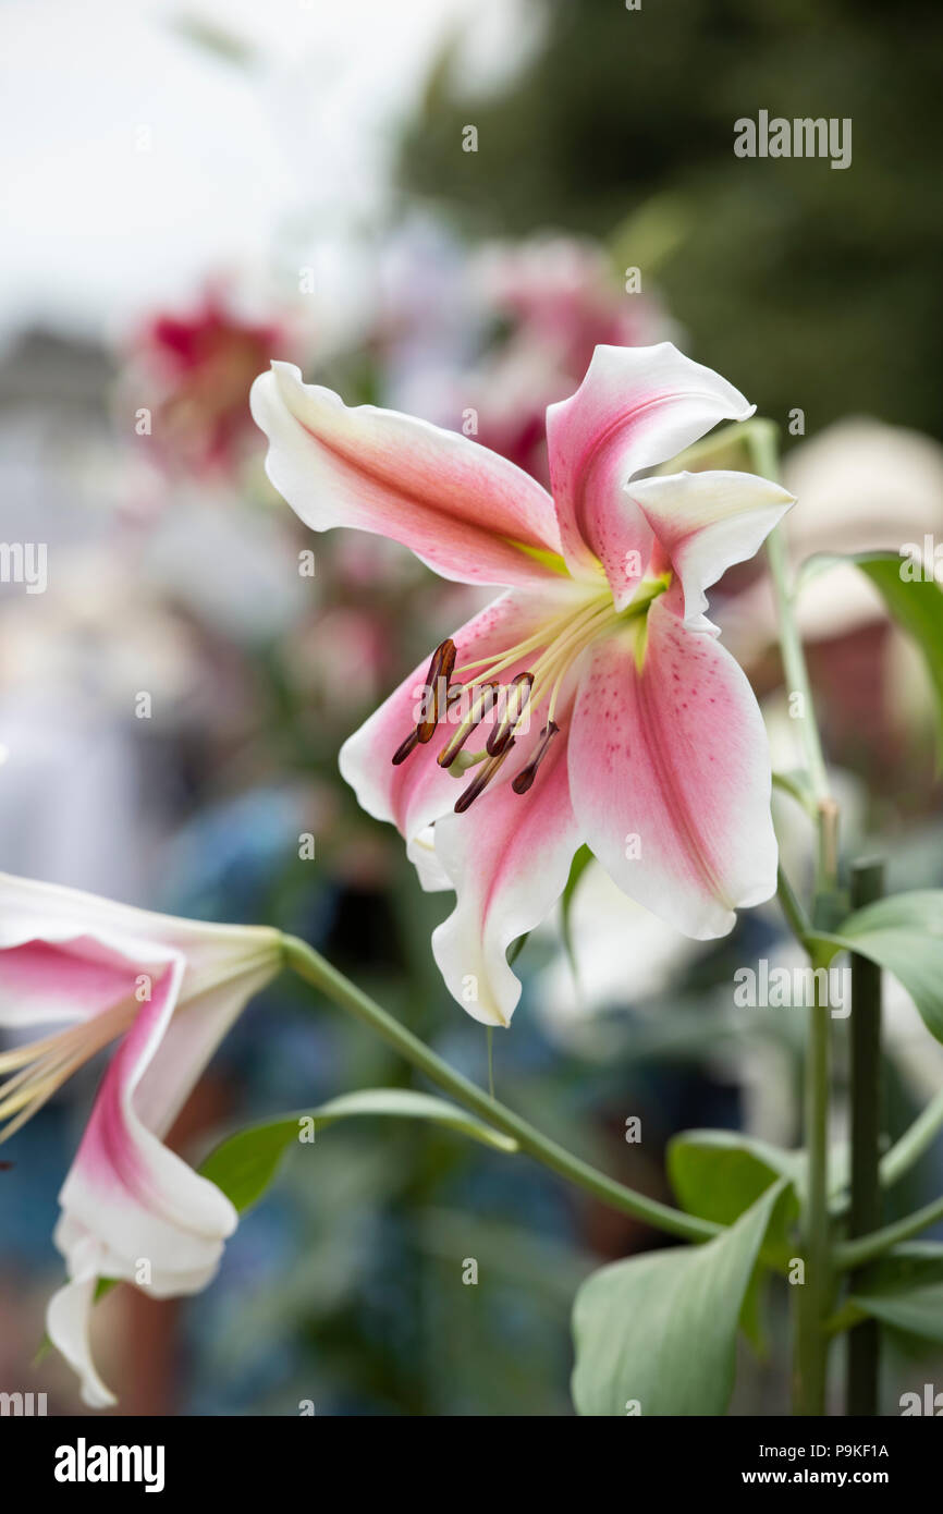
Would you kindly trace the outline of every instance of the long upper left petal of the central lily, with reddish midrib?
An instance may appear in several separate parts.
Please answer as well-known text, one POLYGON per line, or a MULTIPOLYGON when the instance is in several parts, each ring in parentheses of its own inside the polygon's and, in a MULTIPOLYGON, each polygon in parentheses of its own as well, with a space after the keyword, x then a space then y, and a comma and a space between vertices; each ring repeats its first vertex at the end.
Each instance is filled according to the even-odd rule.
POLYGON ((387 536, 459 583, 554 575, 524 550, 560 553, 549 495, 478 442, 372 404, 348 409, 292 363, 256 378, 251 410, 269 439, 268 477, 316 531, 387 536))

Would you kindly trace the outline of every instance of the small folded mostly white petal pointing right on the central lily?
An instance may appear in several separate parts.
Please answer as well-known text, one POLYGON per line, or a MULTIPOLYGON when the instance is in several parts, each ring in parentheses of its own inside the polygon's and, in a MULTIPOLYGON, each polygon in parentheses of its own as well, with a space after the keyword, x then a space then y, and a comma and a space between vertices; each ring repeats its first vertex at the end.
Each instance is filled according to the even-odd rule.
POLYGON ((704 592, 733 563, 754 556, 796 503, 778 483, 745 472, 680 472, 627 486, 655 533, 684 592, 684 619, 698 630, 704 592))

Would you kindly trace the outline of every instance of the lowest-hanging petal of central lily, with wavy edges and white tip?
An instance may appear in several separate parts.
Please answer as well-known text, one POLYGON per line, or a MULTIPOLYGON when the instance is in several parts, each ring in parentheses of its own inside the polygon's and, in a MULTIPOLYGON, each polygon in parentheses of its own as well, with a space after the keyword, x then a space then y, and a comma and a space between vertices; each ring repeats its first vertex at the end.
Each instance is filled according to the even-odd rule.
POLYGON ((521 980, 507 961, 518 936, 539 925, 566 887, 581 836, 569 799, 566 734, 560 731, 527 793, 510 780, 530 760, 539 731, 509 759, 503 781, 465 815, 436 825, 436 854, 456 889, 456 908, 433 933, 433 954, 453 998, 484 1025, 509 1025, 521 980))

